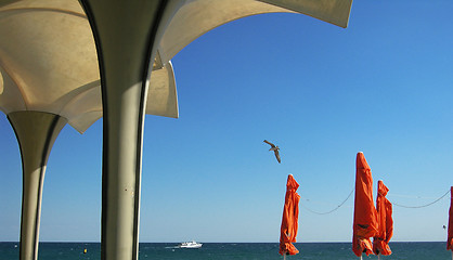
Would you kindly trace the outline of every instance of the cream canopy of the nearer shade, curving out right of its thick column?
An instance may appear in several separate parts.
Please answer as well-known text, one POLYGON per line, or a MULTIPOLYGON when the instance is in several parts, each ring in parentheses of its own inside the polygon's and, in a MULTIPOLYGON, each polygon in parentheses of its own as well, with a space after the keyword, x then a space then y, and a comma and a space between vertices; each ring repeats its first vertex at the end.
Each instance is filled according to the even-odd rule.
MULTIPOLYGON (((229 22, 263 13, 299 12, 346 28, 352 0, 193 0, 174 14, 158 48, 160 62, 205 32, 229 22)), ((297 34, 297 31, 295 31, 297 34)))

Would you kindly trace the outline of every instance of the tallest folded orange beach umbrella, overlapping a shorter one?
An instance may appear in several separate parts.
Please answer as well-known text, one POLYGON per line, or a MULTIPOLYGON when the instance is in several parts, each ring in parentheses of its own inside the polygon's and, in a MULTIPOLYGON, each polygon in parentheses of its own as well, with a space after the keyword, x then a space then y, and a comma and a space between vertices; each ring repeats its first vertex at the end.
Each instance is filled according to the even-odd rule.
POLYGON ((373 253, 370 237, 377 233, 377 212, 373 204, 372 171, 363 153, 357 154, 355 159, 355 199, 352 235, 352 251, 355 256, 373 253))

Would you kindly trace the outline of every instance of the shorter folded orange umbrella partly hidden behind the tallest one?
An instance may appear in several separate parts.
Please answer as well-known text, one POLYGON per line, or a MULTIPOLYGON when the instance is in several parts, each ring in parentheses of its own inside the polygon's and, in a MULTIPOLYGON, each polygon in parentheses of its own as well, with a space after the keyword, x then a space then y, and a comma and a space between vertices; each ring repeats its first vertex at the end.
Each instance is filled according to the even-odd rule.
POLYGON ((388 187, 384 185, 383 181, 377 182, 377 198, 376 210, 379 229, 373 239, 373 251, 376 255, 389 256, 391 255, 388 243, 393 236, 393 219, 391 218, 392 206, 386 198, 388 187))

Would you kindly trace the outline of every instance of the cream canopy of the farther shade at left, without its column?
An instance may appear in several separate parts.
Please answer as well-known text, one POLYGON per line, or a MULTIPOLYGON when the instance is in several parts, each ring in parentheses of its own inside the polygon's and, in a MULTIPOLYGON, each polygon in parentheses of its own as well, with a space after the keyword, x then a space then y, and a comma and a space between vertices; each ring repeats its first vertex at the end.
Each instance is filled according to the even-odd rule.
MULTIPOLYGON (((0 109, 42 112, 85 132, 102 117, 93 34, 78 1, 0 5, 0 109)), ((1 3, 1 1, 0 1, 1 3)), ((150 79, 146 114, 178 117, 170 62, 150 79)))

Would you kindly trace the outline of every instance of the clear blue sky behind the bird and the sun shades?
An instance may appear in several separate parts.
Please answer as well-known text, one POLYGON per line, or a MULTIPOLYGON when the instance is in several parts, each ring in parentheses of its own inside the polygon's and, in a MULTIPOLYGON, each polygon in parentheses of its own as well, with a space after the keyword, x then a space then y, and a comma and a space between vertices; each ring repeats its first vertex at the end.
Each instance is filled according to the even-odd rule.
MULTIPOLYGON (((354 1, 342 29, 300 14, 246 17, 172 60, 180 118, 146 116, 141 242, 277 242, 287 174, 298 242, 350 242, 362 151, 390 202, 453 184, 453 2, 354 1), (281 146, 279 165, 267 139, 281 146)), ((0 240, 18 240, 18 145, 0 116, 0 240)), ((99 242, 102 120, 66 126, 44 181, 41 240, 99 242)), ((393 207, 392 240, 444 240, 450 197, 393 207)))

